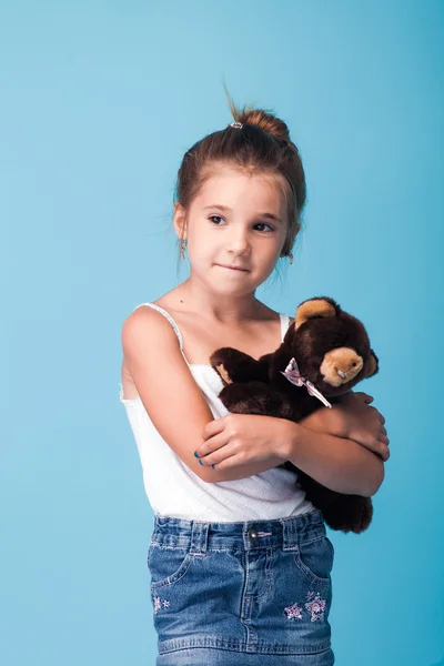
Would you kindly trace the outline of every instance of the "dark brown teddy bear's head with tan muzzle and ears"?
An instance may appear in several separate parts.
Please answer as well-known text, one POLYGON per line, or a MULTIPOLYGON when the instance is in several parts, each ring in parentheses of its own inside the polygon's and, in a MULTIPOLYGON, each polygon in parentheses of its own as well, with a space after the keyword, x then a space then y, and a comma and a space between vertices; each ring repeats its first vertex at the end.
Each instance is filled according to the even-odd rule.
POLYGON ((356 317, 327 296, 300 304, 280 349, 324 395, 341 395, 379 371, 369 335, 356 317))

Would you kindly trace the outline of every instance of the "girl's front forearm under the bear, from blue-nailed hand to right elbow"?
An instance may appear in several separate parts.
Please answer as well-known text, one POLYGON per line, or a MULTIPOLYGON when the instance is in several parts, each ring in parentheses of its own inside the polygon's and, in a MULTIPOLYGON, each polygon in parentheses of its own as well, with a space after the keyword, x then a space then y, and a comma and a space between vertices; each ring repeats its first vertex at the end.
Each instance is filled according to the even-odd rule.
POLYGON ((205 443, 198 453, 203 465, 210 467, 215 463, 215 468, 205 470, 204 481, 245 478, 291 461, 333 491, 374 495, 383 482, 383 460, 389 457, 389 452, 381 441, 381 437, 384 438, 381 434, 383 417, 377 410, 365 404, 365 398, 370 396, 356 394, 351 401, 353 405, 347 407, 349 412, 337 412, 339 420, 333 408, 324 407, 300 423, 271 416, 230 414, 206 424, 203 433, 205 443), (260 423, 258 420, 261 420, 260 423), (325 432, 332 428, 340 433, 347 424, 354 424, 356 428, 355 423, 360 424, 355 432, 362 445, 325 432))

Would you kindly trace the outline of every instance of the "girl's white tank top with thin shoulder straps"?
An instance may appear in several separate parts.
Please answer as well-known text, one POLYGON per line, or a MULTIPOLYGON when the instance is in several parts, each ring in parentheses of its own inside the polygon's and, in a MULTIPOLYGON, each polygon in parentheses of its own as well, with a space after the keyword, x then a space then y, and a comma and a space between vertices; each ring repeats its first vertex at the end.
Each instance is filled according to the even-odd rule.
MULTIPOLYGON (((218 397, 223 383, 215 370, 211 365, 188 363, 183 354, 182 334, 172 316, 154 303, 141 305, 154 307, 169 320, 213 417, 225 416, 229 412, 218 397)), ((280 317, 283 340, 290 317, 287 314, 280 314, 280 317)), ((202 481, 161 437, 139 395, 134 398, 123 397, 123 386, 120 384, 120 401, 127 410, 142 464, 145 493, 155 514, 215 523, 282 518, 315 508, 296 485, 296 474, 282 467, 235 481, 202 481)))

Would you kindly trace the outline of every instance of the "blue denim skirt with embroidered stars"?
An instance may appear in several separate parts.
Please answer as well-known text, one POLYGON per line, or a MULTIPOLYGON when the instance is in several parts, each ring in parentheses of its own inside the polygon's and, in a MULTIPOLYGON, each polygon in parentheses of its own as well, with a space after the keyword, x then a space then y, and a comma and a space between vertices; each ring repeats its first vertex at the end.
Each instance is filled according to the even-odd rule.
POLYGON ((241 523, 155 514, 157 666, 332 666, 333 559, 317 508, 241 523))

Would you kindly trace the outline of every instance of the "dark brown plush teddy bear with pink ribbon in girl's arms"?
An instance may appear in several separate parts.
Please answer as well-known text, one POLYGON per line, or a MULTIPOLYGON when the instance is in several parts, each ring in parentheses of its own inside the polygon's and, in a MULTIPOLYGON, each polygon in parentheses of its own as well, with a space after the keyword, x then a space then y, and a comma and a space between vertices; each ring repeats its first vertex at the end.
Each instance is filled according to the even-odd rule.
MULTIPOLYGON (((379 372, 364 325, 329 296, 299 305, 275 352, 256 361, 236 349, 220 347, 210 363, 222 380, 219 397, 229 412, 294 422, 322 405, 332 407, 357 382, 379 372)), ((359 534, 369 527, 370 497, 332 491, 290 461, 280 466, 297 473, 297 485, 332 529, 359 534)))

